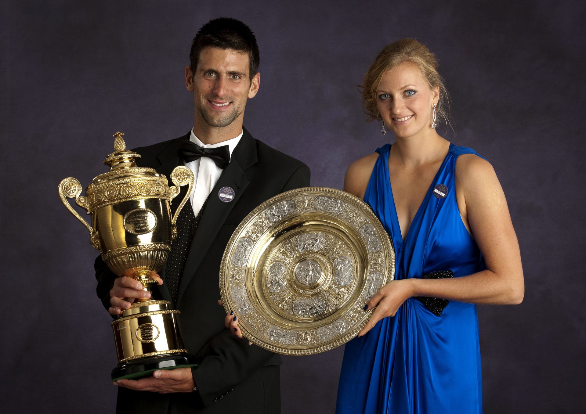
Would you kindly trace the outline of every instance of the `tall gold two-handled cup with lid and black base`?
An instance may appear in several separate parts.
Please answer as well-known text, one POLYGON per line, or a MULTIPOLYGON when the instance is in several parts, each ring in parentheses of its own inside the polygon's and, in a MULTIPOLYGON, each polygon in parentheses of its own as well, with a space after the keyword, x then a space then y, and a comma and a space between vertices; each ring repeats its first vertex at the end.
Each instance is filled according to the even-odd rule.
MULTIPOLYGON (((103 261, 118 276, 130 276, 151 292, 177 234, 176 220, 193 187, 193 173, 178 166, 171 172, 168 186, 164 175, 147 167, 137 167, 137 153, 126 150, 121 132, 114 134, 114 152, 104 164, 110 171, 98 175, 80 197, 81 184, 69 177, 59 183, 63 205, 90 231, 91 245, 100 251, 103 261), (188 185, 185 197, 171 217, 171 200, 179 187, 188 185), (89 225, 67 198, 91 214, 89 225)), ((152 297, 152 296, 151 296, 152 297)), ((137 378, 155 369, 194 366, 180 337, 178 310, 166 300, 136 299, 112 322, 118 352, 118 365, 112 379, 137 378)))

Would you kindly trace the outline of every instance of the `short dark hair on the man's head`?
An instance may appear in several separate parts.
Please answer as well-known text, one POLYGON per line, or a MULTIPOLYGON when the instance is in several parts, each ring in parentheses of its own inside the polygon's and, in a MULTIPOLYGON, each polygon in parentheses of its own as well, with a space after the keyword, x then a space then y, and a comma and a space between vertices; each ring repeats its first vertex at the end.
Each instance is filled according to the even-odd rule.
POLYGON ((248 53, 248 70, 250 78, 258 72, 260 53, 256 37, 250 28, 237 19, 221 17, 213 19, 203 25, 191 44, 189 53, 189 67, 195 74, 199 54, 205 47, 212 46, 219 49, 234 49, 248 53))

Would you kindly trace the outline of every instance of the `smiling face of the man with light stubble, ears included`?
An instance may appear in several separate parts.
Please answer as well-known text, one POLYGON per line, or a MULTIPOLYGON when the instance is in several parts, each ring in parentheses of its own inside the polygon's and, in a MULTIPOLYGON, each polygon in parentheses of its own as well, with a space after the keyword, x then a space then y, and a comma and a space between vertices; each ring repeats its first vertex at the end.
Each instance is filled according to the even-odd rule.
POLYGON ((196 118, 223 128, 244 117, 247 98, 258 91, 260 73, 250 78, 248 54, 234 49, 205 47, 199 54, 196 73, 185 69, 185 85, 193 92, 196 118))

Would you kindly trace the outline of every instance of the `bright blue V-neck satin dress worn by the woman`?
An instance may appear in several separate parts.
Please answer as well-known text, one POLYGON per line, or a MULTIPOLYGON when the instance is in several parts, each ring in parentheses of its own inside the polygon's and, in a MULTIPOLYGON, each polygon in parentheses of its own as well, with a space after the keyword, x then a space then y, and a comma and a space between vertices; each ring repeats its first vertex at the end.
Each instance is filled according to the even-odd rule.
MULTIPOLYGON (((456 159, 476 152, 450 144, 403 241, 389 179, 390 148, 376 150, 380 156, 364 201, 393 239, 395 279, 447 269, 460 277, 484 269, 482 254, 462 223, 454 187, 456 159)), ((435 316, 411 297, 395 316, 347 343, 336 413, 482 413, 476 306, 451 300, 435 316)))

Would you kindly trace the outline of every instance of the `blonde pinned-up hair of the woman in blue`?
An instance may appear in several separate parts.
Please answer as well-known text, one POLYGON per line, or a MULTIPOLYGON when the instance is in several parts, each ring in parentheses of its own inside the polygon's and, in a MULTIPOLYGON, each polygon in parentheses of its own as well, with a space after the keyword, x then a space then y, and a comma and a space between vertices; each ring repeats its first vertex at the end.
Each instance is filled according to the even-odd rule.
POLYGON ((380 121, 379 108, 376 106, 376 91, 385 72, 396 68, 403 62, 415 64, 427 81, 430 89, 440 87, 440 100, 435 108, 437 124, 442 121, 449 124, 449 95, 445 88, 444 78, 437 71, 439 65, 435 55, 427 47, 414 39, 401 39, 384 46, 374 63, 364 75, 359 90, 362 92, 362 108, 368 121, 380 121))

